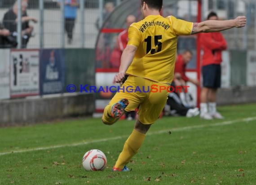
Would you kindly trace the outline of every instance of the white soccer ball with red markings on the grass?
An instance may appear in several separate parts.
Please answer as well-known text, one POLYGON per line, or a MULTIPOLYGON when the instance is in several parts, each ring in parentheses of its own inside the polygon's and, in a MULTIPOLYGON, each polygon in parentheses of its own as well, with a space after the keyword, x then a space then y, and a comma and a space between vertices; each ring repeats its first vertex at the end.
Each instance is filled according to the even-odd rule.
POLYGON ((83 167, 86 171, 102 171, 106 163, 106 155, 101 150, 89 150, 84 154, 83 167))

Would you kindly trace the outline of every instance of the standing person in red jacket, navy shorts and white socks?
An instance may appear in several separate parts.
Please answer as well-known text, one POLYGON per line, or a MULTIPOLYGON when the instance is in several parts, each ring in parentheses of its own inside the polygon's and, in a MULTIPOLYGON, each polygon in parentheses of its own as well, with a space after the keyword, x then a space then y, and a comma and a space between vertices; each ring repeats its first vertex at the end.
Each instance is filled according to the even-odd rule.
MULTIPOLYGON (((218 16, 211 12, 207 19, 217 20, 218 16)), ((200 43, 203 49, 203 88, 201 91, 200 117, 203 119, 223 119, 221 114, 216 111, 216 92, 221 87, 221 52, 226 50, 227 43, 221 32, 202 33, 200 43)))

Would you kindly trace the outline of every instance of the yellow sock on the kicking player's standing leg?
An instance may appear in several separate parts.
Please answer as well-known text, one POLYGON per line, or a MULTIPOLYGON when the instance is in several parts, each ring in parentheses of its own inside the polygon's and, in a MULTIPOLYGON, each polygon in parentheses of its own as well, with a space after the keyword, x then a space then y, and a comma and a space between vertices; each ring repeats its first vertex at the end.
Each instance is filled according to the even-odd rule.
POLYGON ((128 137, 128 139, 124 143, 124 149, 119 155, 115 167, 119 169, 123 169, 124 165, 130 162, 132 157, 137 154, 139 148, 141 147, 146 134, 138 132, 137 130, 133 130, 132 134, 128 137))

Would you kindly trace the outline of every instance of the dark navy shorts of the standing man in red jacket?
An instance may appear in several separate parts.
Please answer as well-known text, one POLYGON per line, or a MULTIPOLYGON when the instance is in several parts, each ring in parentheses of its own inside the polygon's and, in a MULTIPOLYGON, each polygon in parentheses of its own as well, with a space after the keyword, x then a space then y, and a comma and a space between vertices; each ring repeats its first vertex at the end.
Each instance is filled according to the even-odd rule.
POLYGON ((221 87, 221 65, 210 64, 202 67, 203 87, 220 88, 221 87))

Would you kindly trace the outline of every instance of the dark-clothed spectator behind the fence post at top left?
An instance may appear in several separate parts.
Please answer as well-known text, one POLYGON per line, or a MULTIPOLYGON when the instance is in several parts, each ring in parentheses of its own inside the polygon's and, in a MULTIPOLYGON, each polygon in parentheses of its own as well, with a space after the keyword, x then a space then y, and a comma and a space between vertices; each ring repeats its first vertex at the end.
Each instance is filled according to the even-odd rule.
MULTIPOLYGON (((34 29, 29 25, 30 21, 37 22, 37 19, 30 17, 26 13, 27 0, 22 0, 22 48, 26 48, 26 45, 31 37, 31 33, 34 29)), ((4 14, 3 24, 6 29, 11 32, 11 36, 15 40, 17 37, 17 22, 18 22, 18 2, 13 4, 13 7, 4 14)))

